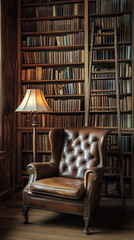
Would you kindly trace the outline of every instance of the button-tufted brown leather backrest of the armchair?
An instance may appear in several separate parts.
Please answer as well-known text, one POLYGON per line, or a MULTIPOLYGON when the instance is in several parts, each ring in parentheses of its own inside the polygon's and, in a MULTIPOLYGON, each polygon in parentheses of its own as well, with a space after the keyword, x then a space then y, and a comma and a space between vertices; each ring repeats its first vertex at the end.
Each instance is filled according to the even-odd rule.
POLYGON ((87 169, 103 166, 105 135, 98 128, 65 129, 59 175, 82 179, 87 169))

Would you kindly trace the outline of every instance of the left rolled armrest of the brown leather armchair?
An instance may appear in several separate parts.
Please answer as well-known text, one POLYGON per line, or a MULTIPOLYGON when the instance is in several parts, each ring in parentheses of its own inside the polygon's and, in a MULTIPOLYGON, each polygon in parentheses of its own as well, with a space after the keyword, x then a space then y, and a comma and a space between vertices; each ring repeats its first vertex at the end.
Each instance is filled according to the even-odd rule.
POLYGON ((27 166, 29 177, 33 181, 54 176, 57 173, 57 167, 54 162, 36 162, 27 166))

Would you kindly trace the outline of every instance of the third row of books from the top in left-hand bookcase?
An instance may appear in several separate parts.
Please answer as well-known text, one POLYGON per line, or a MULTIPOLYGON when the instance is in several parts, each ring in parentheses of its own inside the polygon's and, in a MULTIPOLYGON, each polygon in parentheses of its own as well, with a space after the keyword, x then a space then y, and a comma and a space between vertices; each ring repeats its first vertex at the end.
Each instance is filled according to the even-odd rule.
POLYGON ((22 44, 23 47, 81 45, 84 44, 84 32, 64 36, 28 36, 22 44))

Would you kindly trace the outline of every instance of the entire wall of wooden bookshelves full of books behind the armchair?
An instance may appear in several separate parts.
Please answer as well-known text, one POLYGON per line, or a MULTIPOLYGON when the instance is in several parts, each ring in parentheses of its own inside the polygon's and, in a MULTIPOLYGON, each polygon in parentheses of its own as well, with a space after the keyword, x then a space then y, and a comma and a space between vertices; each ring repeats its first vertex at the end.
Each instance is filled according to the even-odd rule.
MULTIPOLYGON (((117 116, 113 36, 110 31, 113 28, 113 19, 116 18, 125 191, 126 196, 133 196, 134 4, 130 7, 129 0, 126 5, 125 1, 116 1, 119 5, 112 2, 115 1, 109 0, 109 4, 106 4, 105 0, 18 1, 18 105, 27 88, 43 90, 53 111, 38 115, 37 156, 38 161, 49 161, 50 129, 85 125, 88 114, 91 21, 94 20, 97 36, 93 59, 94 81, 91 84, 91 94, 94 96, 91 98, 89 125, 111 129, 103 194, 117 196, 118 151, 114 149, 117 139, 117 116), (107 36, 106 32, 109 32, 107 36), (101 72, 96 75, 96 71, 101 72), (97 94, 94 89, 98 90, 97 94), (109 167, 113 169, 108 169, 109 167)), ((18 114, 17 182, 20 185, 22 178, 27 179, 26 165, 32 161, 31 139, 30 116, 18 114)))

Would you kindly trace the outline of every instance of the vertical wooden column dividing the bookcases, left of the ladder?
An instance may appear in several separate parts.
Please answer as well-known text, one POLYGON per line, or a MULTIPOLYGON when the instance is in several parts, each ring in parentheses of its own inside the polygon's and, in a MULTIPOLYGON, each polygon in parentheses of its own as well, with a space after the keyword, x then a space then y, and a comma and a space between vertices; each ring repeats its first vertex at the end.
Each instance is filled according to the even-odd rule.
POLYGON ((88 0, 84 1, 84 23, 85 23, 85 32, 84 32, 84 74, 85 74, 85 126, 88 126, 88 74, 89 74, 89 19, 88 19, 88 0))

